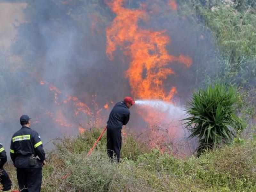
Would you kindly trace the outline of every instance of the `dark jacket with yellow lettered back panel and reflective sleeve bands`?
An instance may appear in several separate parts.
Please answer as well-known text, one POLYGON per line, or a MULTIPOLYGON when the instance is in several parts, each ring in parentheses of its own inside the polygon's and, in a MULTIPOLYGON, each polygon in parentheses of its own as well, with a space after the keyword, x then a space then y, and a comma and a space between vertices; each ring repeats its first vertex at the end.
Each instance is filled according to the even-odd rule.
POLYGON ((15 167, 18 168, 40 168, 45 159, 43 143, 38 133, 26 126, 14 133, 11 141, 10 155, 15 167), (29 166, 29 157, 34 154, 38 156, 36 165, 29 166))

